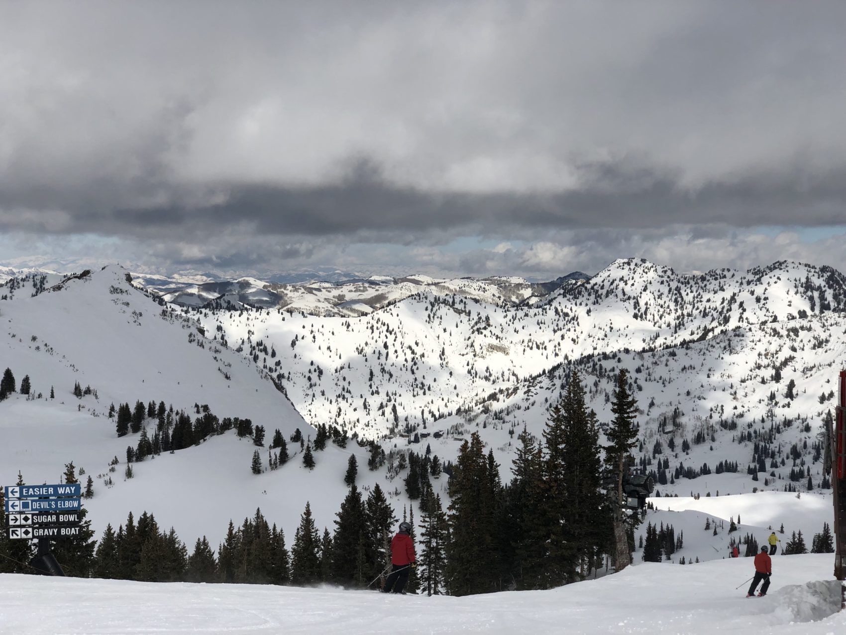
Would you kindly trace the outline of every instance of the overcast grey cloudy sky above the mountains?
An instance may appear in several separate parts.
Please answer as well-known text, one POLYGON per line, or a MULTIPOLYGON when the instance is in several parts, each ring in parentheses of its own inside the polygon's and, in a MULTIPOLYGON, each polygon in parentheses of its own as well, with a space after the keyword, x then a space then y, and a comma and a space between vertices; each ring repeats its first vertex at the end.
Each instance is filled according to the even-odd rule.
POLYGON ((846 270, 846 3, 3 2, 0 263, 846 270))

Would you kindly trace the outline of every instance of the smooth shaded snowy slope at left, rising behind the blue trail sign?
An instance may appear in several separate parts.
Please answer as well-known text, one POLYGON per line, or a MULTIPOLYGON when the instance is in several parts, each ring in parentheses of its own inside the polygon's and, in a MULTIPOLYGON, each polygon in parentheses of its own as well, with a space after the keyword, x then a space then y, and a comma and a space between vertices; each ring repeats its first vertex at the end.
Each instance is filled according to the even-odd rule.
MULTIPOLYGON (((208 405, 217 417, 245 417, 265 426, 267 440, 277 428, 286 438, 296 428, 310 430, 253 362, 207 340, 195 321, 135 289, 117 266, 69 279, 35 297, 17 294, 0 305, 0 319, 0 360, 18 386, 25 376, 32 385, 29 396, 12 393, 0 402, 0 484, 14 483, 19 471, 29 483, 53 482, 64 463, 74 461, 96 478, 95 498, 86 506, 98 531, 146 508, 186 537, 222 534, 230 517, 239 520, 242 511, 247 515, 266 507, 264 492, 272 490, 266 482, 247 483, 256 448, 231 431, 199 447, 136 463, 135 479, 124 480, 126 448, 138 444, 139 434, 118 438, 108 417, 111 404, 163 401, 192 416, 195 404, 208 405), (76 383, 91 394, 74 396, 76 383), (114 457, 120 464, 109 472, 114 457), (225 509, 211 505, 212 493, 226 497, 225 509), (208 509, 217 509, 213 521, 208 509)), ((152 433, 155 419, 146 425, 152 433)), ((261 450, 266 464, 266 448, 261 450)), ((287 477, 273 472, 280 480, 283 473, 287 477)), ((343 496, 341 478, 338 483, 332 513, 343 496)), ((273 505, 291 505, 297 514, 305 505, 301 489, 275 494, 273 505)))

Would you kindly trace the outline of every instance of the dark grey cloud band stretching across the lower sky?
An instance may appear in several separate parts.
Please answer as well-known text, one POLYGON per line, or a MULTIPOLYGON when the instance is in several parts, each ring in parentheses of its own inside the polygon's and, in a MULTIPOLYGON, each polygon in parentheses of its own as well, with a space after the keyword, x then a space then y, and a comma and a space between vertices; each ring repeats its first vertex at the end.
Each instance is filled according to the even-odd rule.
MULTIPOLYGON (((374 179, 342 185, 283 187, 229 185, 225 201, 206 206, 168 206, 71 212, 74 224, 59 231, 149 235, 179 230, 183 237, 238 226, 275 235, 343 235, 404 241, 430 230, 461 235, 512 235, 544 229, 654 229, 673 224, 825 225, 843 222, 846 170, 827 174, 748 174, 688 191, 672 174, 631 162, 591 166, 577 189, 538 194, 423 191, 374 179)), ((0 198, 2 198, 0 194, 0 198)), ((57 202, 58 203, 58 202, 57 202)), ((70 212, 70 211, 69 211, 70 212)), ((34 220, 39 217, 36 215, 34 220)), ((3 219, 8 228, 20 218, 3 219)), ((27 221, 24 221, 27 222, 27 221)))

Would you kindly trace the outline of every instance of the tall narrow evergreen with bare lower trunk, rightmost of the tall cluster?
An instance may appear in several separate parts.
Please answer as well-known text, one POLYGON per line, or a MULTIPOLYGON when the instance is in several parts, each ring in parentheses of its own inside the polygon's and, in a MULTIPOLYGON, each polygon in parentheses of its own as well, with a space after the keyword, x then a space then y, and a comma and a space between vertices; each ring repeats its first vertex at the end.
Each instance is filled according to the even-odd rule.
POLYGON ((614 566, 620 572, 631 564, 626 530, 627 528, 634 529, 634 522, 636 522, 636 516, 634 518, 629 516, 624 509, 623 478, 629 461, 632 460, 631 449, 637 444, 638 432, 635 421, 637 401, 629 393, 629 375, 625 369, 621 369, 617 376, 617 388, 613 393, 611 411, 614 418, 606 434, 608 445, 605 448, 605 462, 607 473, 612 475, 615 481, 615 487, 609 490, 613 511, 612 555, 614 566))

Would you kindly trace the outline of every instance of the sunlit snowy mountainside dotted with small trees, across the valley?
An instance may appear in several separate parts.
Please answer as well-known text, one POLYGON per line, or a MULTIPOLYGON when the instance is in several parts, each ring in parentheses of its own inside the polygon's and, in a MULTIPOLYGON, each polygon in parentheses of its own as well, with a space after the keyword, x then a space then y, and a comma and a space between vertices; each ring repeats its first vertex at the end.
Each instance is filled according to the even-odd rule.
POLYGON ((503 475, 515 430, 540 434, 571 370, 607 422, 614 375, 627 368, 643 411, 644 467, 659 452, 671 476, 737 461, 740 472, 726 476, 738 492, 759 437, 767 474, 774 460, 782 468, 779 487, 794 467, 781 465, 793 444, 795 467, 814 463, 819 482, 813 445, 846 350, 843 302, 843 275, 829 268, 777 262, 683 276, 619 260, 532 306, 426 286, 357 318, 244 310, 201 320, 266 367, 306 420, 388 444, 418 433, 442 457, 480 429, 503 475), (426 439, 434 432, 445 436, 426 439), (685 440, 693 447, 683 452, 685 440))

